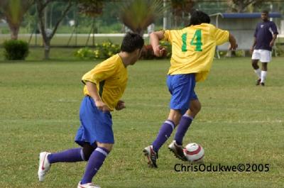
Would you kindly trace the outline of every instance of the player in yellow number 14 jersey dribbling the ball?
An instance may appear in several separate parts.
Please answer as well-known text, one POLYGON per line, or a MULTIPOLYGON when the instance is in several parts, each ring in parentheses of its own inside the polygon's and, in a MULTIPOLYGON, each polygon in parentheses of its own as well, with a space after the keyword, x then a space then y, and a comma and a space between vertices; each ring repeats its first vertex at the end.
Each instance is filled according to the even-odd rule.
POLYGON ((158 150, 170 138, 175 126, 178 126, 175 140, 168 148, 180 160, 186 160, 182 151, 182 139, 201 109, 200 101, 195 94, 195 82, 207 78, 217 45, 229 41, 230 50, 237 47, 236 40, 229 31, 215 28, 209 23, 210 18, 206 13, 195 11, 190 18, 190 26, 181 30, 156 31, 150 35, 156 56, 163 55, 165 50, 159 45, 159 40, 168 40, 172 44, 167 78, 168 89, 172 94, 170 114, 152 145, 143 150, 150 167, 157 167, 158 150))

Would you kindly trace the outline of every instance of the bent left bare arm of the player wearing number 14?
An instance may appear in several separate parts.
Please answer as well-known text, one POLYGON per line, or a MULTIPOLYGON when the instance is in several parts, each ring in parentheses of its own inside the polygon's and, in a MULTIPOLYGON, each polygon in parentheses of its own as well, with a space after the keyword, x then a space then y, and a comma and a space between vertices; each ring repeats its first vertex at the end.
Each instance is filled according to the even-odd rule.
POLYGON ((150 34, 150 43, 152 45, 155 56, 160 57, 163 55, 165 48, 160 46, 159 41, 164 38, 165 31, 155 31, 150 34))

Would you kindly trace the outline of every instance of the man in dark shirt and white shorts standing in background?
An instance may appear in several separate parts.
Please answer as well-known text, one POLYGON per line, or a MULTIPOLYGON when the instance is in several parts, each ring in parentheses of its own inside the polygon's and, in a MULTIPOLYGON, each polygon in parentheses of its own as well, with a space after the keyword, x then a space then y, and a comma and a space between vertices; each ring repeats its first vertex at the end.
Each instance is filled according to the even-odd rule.
POLYGON ((261 86, 264 86, 267 64, 268 62, 271 62, 271 50, 278 32, 275 23, 268 19, 268 11, 262 11, 261 19, 262 22, 256 25, 256 31, 254 33, 253 46, 251 47, 251 52, 253 53, 251 62, 253 70, 258 76, 256 85, 261 84, 261 86), (262 63, 261 70, 258 67, 258 60, 262 63))

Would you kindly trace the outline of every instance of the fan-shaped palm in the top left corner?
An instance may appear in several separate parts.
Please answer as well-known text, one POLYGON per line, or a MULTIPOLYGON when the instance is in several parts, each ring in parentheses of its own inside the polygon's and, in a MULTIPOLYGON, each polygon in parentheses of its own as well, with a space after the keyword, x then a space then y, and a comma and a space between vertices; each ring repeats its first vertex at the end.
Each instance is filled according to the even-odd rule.
POLYGON ((18 31, 23 15, 33 4, 33 0, 1 0, 0 9, 4 14, 11 31, 11 39, 18 39, 18 31))

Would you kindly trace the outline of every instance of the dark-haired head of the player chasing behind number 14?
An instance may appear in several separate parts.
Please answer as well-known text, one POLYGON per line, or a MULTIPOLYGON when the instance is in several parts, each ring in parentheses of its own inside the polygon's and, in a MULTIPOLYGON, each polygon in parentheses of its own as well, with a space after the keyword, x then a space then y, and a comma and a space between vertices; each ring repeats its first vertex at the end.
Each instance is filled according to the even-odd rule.
POLYGON ((121 43, 121 52, 126 52, 131 58, 131 64, 133 65, 141 56, 144 40, 141 35, 136 33, 126 33, 124 40, 121 43))

